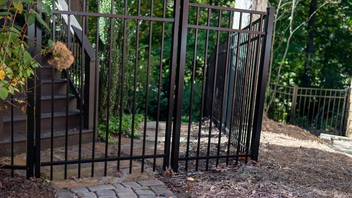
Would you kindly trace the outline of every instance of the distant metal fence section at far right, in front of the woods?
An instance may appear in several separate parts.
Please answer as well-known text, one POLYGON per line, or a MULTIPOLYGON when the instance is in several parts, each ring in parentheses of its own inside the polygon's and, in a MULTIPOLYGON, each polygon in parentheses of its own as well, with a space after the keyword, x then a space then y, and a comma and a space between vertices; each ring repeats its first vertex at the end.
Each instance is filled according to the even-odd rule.
POLYGON ((274 94, 268 116, 311 131, 345 136, 351 88, 319 89, 270 83, 267 100, 274 94))

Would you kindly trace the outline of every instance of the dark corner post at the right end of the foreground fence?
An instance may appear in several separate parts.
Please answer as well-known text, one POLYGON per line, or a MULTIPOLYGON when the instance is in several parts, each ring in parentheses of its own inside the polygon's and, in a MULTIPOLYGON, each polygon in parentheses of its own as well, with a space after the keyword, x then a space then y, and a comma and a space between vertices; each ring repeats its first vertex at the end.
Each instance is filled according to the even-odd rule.
POLYGON ((262 54, 259 63, 258 84, 257 84, 257 98, 255 102, 254 117, 253 117, 253 132, 251 142, 252 159, 258 160, 260 132, 262 131, 264 100, 266 91, 266 82, 268 81, 270 46, 272 39, 272 29, 274 23, 275 7, 266 8, 268 12, 265 20, 264 31, 267 32, 263 38, 262 54))

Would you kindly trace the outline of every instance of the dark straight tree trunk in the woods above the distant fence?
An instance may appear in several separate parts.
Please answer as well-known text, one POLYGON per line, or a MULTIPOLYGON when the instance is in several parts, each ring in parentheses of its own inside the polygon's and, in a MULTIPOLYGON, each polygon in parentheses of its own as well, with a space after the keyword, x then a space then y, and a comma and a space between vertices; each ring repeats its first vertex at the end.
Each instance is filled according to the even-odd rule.
MULTIPOLYGON (((310 2, 309 16, 311 16, 317 8, 317 0, 312 0, 310 2)), ((303 86, 310 87, 310 75, 312 73, 312 62, 313 62, 313 52, 314 52, 314 27, 315 27, 316 13, 312 15, 312 18, 308 21, 307 31, 308 31, 308 42, 306 48, 306 63, 304 64, 304 77, 303 86)))

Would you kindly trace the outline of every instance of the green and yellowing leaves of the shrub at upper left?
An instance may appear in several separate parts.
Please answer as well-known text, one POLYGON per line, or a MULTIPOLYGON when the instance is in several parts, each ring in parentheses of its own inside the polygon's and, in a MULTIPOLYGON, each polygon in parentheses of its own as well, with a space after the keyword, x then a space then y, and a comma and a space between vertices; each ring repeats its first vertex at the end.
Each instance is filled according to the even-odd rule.
MULTIPOLYGON (((9 94, 19 94, 20 89, 26 92, 27 79, 34 75, 34 68, 39 67, 35 57, 27 52, 29 45, 25 41, 30 39, 25 35, 27 27, 37 20, 49 29, 42 16, 33 10, 36 1, 23 2, 29 5, 29 10, 24 10, 23 3, 19 0, 0 2, 1 9, 6 9, 6 12, 0 12, 0 19, 5 21, 0 29, 0 102, 6 100, 9 94), (3 6, 6 3, 7 7, 3 6), (20 14, 23 14, 26 21, 23 26, 15 25, 15 20, 11 20, 20 14)), ((49 50, 50 48, 43 47, 41 53, 46 54, 49 50)))

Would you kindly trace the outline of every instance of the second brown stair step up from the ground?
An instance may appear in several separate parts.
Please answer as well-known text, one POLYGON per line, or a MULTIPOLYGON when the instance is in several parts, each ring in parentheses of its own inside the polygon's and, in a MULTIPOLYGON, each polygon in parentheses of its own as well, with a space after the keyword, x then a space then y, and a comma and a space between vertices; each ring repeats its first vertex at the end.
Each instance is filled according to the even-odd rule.
MULTIPOLYGON (((80 125, 80 110, 70 110, 68 112, 68 126, 69 128, 78 128, 80 125)), ((11 133, 11 117, 4 116, 4 135, 11 133)), ((24 133, 27 128, 26 116, 25 115, 15 115, 13 117, 13 125, 15 133, 24 133)), ((66 123, 66 111, 56 111, 54 112, 54 129, 64 130, 66 123)), ((51 129, 51 113, 42 113, 40 129, 42 131, 48 131, 51 129)))

